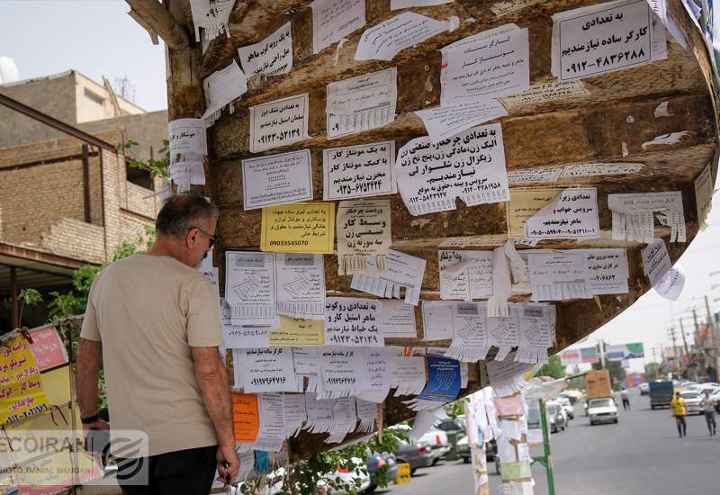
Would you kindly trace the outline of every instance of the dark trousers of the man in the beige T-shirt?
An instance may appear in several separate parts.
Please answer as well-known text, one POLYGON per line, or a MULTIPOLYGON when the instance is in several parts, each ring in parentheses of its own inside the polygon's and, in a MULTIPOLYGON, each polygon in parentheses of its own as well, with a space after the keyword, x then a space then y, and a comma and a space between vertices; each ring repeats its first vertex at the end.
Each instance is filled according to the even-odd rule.
POLYGON ((139 459, 116 459, 118 482, 124 495, 205 495, 215 477, 217 446, 191 448, 139 459), (148 482, 137 484, 130 475, 147 463, 148 482))

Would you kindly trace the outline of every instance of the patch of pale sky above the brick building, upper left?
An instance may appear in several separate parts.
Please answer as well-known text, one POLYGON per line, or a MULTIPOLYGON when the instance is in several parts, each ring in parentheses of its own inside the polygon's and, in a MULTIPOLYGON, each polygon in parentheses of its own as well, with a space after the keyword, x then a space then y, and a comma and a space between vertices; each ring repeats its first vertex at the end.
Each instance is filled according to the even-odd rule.
POLYGON ((127 12, 123 0, 0 0, 0 57, 21 79, 76 69, 98 83, 127 77, 135 103, 167 108, 165 47, 127 12))

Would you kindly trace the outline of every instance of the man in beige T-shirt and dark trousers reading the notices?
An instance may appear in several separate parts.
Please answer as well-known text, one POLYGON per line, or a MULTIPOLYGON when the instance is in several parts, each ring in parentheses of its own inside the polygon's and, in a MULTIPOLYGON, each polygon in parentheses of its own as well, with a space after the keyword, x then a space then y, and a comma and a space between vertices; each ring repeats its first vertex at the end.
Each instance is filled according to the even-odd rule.
POLYGON ((215 242, 217 219, 217 208, 199 194, 169 198, 157 215, 154 246, 104 268, 90 289, 77 351, 77 400, 86 432, 110 429, 125 495, 206 494, 216 470, 221 482, 238 474, 218 351, 219 302, 196 270, 215 242), (109 424, 98 417, 101 362, 109 424), (147 457, 122 455, 119 430, 147 433, 147 457), (147 480, 129 475, 133 470, 147 480))

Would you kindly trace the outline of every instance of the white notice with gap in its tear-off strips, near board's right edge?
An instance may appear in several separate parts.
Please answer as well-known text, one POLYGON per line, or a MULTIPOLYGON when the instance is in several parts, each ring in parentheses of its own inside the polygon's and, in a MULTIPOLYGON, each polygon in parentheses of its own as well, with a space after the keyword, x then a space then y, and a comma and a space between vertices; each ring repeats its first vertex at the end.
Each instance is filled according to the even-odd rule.
POLYGON ((671 242, 685 242, 685 215, 682 193, 608 194, 608 208, 613 212, 613 238, 651 243, 654 236, 654 214, 671 228, 671 242))

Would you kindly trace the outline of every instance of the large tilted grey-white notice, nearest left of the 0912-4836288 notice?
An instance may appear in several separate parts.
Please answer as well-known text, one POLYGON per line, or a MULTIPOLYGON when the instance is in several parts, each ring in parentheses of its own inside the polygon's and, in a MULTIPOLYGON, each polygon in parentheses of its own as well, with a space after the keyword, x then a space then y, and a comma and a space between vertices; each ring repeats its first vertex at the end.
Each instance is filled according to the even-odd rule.
POLYGON ((443 107, 519 93, 530 85, 527 29, 505 24, 440 50, 443 107))

